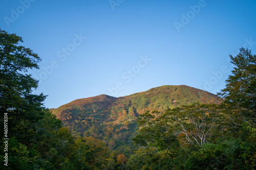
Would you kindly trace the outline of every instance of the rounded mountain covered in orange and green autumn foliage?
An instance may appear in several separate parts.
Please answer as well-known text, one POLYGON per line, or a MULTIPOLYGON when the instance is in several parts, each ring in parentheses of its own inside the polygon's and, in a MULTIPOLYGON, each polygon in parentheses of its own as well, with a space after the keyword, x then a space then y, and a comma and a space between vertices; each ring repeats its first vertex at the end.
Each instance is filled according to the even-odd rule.
POLYGON ((78 99, 51 110, 74 136, 92 136, 102 139, 113 149, 120 149, 131 143, 138 130, 136 120, 146 110, 163 112, 168 108, 196 102, 221 101, 204 90, 168 85, 119 98, 102 94, 78 99))

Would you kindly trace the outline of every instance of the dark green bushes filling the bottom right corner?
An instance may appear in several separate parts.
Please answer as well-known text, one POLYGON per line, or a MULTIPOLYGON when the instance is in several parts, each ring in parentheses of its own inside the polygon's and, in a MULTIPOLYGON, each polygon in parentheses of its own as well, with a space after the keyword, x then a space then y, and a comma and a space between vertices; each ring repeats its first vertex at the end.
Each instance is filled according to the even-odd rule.
POLYGON ((192 152, 185 162, 187 169, 255 169, 256 129, 243 124, 241 138, 220 138, 216 144, 206 143, 192 152), (245 135, 247 134, 247 135, 245 135))

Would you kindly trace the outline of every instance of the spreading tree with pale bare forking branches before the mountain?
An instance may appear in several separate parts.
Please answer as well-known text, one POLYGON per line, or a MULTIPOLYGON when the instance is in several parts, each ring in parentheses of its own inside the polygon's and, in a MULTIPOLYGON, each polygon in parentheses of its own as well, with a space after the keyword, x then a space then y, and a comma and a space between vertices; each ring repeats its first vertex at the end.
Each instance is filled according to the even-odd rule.
POLYGON ((174 133, 184 136, 182 144, 197 144, 202 147, 223 130, 224 114, 216 104, 196 103, 168 109, 162 119, 174 127, 174 133))

